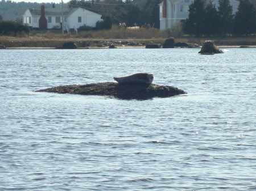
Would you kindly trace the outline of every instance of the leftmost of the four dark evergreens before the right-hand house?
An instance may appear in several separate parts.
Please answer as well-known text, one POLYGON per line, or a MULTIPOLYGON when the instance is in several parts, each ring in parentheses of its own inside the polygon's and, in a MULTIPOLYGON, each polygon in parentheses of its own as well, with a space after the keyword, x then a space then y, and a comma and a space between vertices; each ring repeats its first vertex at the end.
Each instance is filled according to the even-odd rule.
POLYGON ((195 0, 189 5, 188 18, 185 20, 184 32, 189 35, 202 36, 205 26, 205 1, 195 0))

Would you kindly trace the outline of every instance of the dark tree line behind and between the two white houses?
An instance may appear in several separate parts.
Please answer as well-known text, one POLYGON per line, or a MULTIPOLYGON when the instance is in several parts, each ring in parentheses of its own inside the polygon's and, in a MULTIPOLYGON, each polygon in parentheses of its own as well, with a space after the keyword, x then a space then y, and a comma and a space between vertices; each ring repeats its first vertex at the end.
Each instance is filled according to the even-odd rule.
POLYGON ((110 16, 113 24, 125 23, 126 27, 134 25, 160 28, 159 7, 162 0, 71 0, 69 7, 82 7, 102 15, 102 19, 110 16))

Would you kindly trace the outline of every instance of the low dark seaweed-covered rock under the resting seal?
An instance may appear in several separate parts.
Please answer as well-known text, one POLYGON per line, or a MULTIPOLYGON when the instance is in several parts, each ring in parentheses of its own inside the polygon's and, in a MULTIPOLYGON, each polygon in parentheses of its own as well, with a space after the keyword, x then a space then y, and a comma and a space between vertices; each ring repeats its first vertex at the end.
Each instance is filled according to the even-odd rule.
POLYGON ((156 84, 119 84, 115 82, 92 83, 83 85, 68 85, 37 90, 35 92, 53 92, 58 94, 104 95, 118 99, 146 100, 152 97, 170 97, 187 94, 172 86, 158 86, 156 84))

